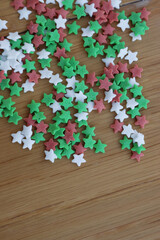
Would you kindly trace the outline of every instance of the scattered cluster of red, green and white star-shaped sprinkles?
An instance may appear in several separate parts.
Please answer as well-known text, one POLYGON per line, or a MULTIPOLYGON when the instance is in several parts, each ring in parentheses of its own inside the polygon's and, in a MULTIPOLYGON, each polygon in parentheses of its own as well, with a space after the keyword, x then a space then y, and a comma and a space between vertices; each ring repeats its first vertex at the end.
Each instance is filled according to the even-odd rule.
MULTIPOLYGON (((150 12, 143 8, 127 17, 125 11, 117 10, 120 4, 121 0, 27 0, 26 4, 24 0, 12 1, 20 20, 28 20, 32 11, 36 13, 36 20, 29 22, 25 34, 9 33, 0 39, 0 89, 10 91, 9 98, 0 95, 0 117, 18 124, 22 117, 14 107, 12 96, 33 92, 40 79, 48 79, 53 86, 52 93, 44 93, 41 102, 28 103, 29 115, 24 119, 23 129, 11 134, 13 143, 31 150, 34 144, 43 141, 46 160, 54 162, 66 156, 81 166, 86 162, 84 152, 88 148, 95 153, 105 152, 107 145, 96 140, 95 127, 88 124, 88 115, 93 110, 98 113, 105 110, 106 101, 111 104, 110 111, 115 112, 111 128, 122 134, 122 149, 131 150, 131 158, 140 161, 145 150, 144 135, 125 121, 135 118, 135 125, 144 128, 148 121, 141 110, 147 108, 149 100, 142 95, 143 87, 137 82, 143 69, 133 65, 138 61, 138 53, 129 50, 122 37, 115 33, 115 24, 122 31, 130 29, 133 42, 141 40, 149 29, 146 21, 150 12), (69 24, 70 13, 76 20, 69 24), (78 21, 87 15, 90 21, 82 28, 78 21), (80 31, 88 58, 101 56, 105 67, 100 76, 89 73, 85 65, 67 55, 72 48, 67 34, 77 35, 80 31), (62 76, 53 74, 53 58, 58 60, 62 76), (27 76, 23 84, 22 74, 27 76), (100 97, 101 91, 104 99, 100 97), (53 111, 49 124, 40 110, 43 104, 53 111), (50 138, 46 140, 48 134, 50 138)), ((0 20, 0 30, 7 29, 6 24, 7 21, 0 20)))

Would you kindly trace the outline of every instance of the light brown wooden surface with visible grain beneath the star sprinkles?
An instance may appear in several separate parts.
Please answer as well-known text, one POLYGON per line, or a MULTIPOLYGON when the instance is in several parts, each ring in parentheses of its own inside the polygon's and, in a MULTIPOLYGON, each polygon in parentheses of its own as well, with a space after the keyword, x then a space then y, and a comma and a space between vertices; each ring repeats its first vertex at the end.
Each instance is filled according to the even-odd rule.
MULTIPOLYGON (((23 32, 26 22, 19 22, 9 3, 0 1, 0 18, 8 20, 10 32, 23 32)), ((114 118, 109 104, 101 114, 89 115, 96 137, 108 144, 106 154, 87 151, 87 163, 80 168, 65 158, 55 164, 44 161, 43 144, 32 151, 12 144, 10 134, 23 123, 13 126, 0 119, 0 240, 160 240, 160 1, 123 4, 127 14, 144 5, 152 12, 143 41, 132 43, 129 31, 123 34, 129 48, 139 52, 144 69, 139 82, 150 100, 143 111, 150 121, 142 130, 145 156, 137 163, 121 150, 120 134, 109 127, 114 118)), ((87 24, 85 19, 80 23, 87 24)), ((70 56, 100 74, 101 59, 87 59, 80 35, 68 40, 73 43, 70 56)), ((60 72, 56 64, 53 60, 54 73, 60 72)), ((27 104, 40 100, 44 87, 52 91, 47 80, 40 80, 34 93, 13 98, 20 115, 27 116, 27 104)), ((51 111, 44 110, 50 121, 51 111)))

